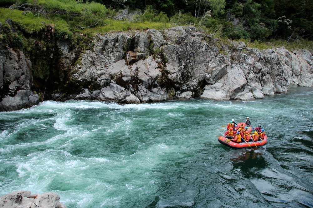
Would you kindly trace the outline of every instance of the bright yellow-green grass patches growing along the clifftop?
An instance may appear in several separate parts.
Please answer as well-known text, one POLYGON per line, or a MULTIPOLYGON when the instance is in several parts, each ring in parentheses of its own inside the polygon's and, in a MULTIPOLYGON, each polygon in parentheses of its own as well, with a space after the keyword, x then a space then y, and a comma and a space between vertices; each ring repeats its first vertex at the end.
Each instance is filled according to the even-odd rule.
MULTIPOLYGON (((59 35, 59 38, 71 38, 73 37, 73 34, 77 32, 83 33, 85 35, 87 34, 91 37, 96 33, 143 30, 148 28, 164 30, 169 27, 176 26, 172 25, 169 22, 142 22, 140 18, 138 19, 139 21, 134 22, 126 22, 125 20, 116 21, 111 18, 107 18, 110 14, 112 14, 113 11, 106 9, 105 6, 98 3, 76 3, 74 0, 64 0, 63 2, 59 2, 58 0, 39 0, 38 3, 40 3, 41 6, 46 7, 47 11, 67 11, 68 14, 52 14, 49 16, 50 18, 47 18, 43 15, 34 16, 32 13, 29 13, 28 15, 23 15, 23 11, 21 10, 11 10, 0 7, 0 22, 4 24, 4 21, 10 18, 13 22, 17 22, 22 27, 22 29, 25 30, 24 32, 29 34, 39 33, 44 29, 45 24, 48 24, 55 28, 56 35, 59 35), (86 27, 85 29, 77 29, 75 26, 77 24, 80 24, 77 22, 80 18, 69 18, 69 16, 71 16, 71 14, 78 13, 80 13, 81 17, 84 17, 86 19, 89 18, 91 22, 93 19, 96 19, 96 21, 100 21, 94 27, 86 27, 85 23, 85 25, 83 25, 86 27)), ((219 34, 216 34, 215 36, 223 39, 223 37, 219 36, 219 34)), ((0 39, 1 38, 2 35, 0 34, 0 39)), ((270 40, 269 42, 250 42, 249 40, 242 41, 244 41, 249 47, 256 47, 259 49, 284 46, 288 50, 307 49, 311 53, 313 52, 313 42, 307 41, 305 39, 289 42, 286 42, 284 40, 270 40)))

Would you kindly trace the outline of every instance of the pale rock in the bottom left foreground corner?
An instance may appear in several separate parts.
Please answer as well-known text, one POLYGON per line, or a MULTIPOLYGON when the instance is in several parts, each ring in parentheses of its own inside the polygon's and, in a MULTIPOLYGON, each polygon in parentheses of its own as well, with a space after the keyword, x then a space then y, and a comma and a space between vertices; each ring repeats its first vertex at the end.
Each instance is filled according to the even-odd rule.
POLYGON ((0 198, 0 207, 3 208, 66 208, 60 203, 60 196, 56 193, 32 195, 30 191, 15 191, 0 198))

